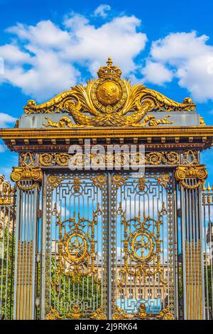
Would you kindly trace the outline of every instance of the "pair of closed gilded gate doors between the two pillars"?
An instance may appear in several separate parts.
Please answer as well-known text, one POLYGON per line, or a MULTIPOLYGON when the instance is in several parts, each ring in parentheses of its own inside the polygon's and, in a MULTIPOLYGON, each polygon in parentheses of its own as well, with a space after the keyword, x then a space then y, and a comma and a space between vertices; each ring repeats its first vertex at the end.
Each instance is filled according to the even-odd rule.
POLYGON ((44 188, 43 318, 174 318, 173 173, 47 173, 44 188))

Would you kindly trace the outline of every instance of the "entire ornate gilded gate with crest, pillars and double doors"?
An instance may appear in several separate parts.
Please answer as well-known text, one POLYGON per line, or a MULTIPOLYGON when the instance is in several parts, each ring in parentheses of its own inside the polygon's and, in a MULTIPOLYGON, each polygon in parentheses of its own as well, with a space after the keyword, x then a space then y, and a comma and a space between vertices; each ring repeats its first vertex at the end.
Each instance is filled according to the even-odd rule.
POLYGON ((14 319, 209 319, 212 188, 200 152, 213 127, 192 99, 131 86, 110 58, 97 74, 44 104, 29 100, 16 127, 0 130, 19 154, 16 226, 4 219, 11 194, 0 193, 0 241, 6 252, 12 223, 14 259, 10 272, 5 255, 0 262, 1 292, 14 282, 1 310, 14 319))

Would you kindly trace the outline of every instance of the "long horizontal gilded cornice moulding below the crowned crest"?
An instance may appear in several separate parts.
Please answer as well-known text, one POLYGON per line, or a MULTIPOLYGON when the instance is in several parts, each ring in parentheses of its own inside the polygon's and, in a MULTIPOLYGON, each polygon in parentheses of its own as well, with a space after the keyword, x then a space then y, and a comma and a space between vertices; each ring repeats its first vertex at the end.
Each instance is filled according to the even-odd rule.
POLYGON ((211 137, 213 126, 160 126, 143 129, 130 127, 97 127, 77 129, 0 129, 2 139, 63 139, 63 138, 144 138, 144 137, 211 137))

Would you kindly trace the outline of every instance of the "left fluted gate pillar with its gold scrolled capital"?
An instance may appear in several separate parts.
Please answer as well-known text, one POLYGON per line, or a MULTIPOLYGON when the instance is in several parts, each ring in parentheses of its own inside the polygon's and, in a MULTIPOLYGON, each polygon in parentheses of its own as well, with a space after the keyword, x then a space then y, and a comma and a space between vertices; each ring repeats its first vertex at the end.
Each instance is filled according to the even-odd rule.
POLYGON ((17 185, 16 255, 13 319, 35 318, 35 254, 37 248, 39 167, 13 168, 17 185))

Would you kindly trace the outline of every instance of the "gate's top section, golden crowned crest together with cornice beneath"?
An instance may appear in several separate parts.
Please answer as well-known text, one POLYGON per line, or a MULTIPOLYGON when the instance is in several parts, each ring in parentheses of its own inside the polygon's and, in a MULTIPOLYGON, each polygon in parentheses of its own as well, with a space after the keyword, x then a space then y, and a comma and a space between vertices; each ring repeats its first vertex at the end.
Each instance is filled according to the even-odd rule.
MULTIPOLYGON (((186 97, 178 103, 144 85, 131 85, 111 59, 86 86, 77 85, 43 104, 32 99, 15 129, 1 129, 18 153, 65 152, 71 144, 143 144, 146 151, 202 151, 212 146, 213 128, 186 97)), ((38 163, 37 163, 38 164, 38 163)))

